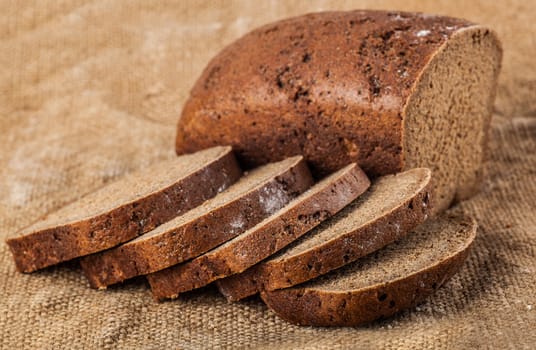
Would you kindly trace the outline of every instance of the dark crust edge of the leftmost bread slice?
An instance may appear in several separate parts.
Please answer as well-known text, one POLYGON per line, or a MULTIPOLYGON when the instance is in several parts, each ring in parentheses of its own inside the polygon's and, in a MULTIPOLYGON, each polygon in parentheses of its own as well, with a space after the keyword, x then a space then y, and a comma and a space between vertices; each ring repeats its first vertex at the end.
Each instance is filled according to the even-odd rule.
POLYGON ((7 244, 17 270, 33 272, 131 240, 214 197, 241 175, 228 147, 219 159, 158 192, 101 215, 8 239, 7 244))

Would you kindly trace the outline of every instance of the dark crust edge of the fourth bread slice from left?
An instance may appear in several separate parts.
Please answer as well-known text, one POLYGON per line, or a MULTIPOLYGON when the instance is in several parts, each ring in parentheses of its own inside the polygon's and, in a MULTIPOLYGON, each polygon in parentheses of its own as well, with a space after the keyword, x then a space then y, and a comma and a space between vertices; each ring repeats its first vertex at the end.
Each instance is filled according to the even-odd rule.
POLYGON ((404 237, 426 220, 433 210, 431 188, 428 183, 415 197, 368 225, 349 231, 344 237, 295 256, 261 262, 241 274, 217 281, 218 289, 227 300, 238 301, 262 290, 291 287, 347 265, 404 237))

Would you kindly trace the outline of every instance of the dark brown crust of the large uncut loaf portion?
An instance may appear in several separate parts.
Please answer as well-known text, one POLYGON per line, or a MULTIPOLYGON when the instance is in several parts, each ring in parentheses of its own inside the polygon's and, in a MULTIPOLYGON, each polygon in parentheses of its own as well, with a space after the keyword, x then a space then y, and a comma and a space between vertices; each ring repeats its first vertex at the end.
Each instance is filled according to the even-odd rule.
POLYGON ((232 144, 248 166, 303 154, 319 174, 351 162, 373 177, 401 171, 405 103, 434 53, 470 25, 352 11, 258 28, 204 70, 178 124, 177 153, 232 144))

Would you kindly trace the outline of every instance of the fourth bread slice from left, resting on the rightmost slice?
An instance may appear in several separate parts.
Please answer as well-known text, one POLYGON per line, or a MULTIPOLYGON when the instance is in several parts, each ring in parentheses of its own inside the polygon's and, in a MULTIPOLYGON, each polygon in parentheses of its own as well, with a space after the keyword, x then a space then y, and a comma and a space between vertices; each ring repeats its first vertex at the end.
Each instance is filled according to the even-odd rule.
POLYGON ((245 272, 217 281, 230 301, 290 287, 369 254, 411 231, 429 215, 431 172, 387 175, 332 219, 245 272))

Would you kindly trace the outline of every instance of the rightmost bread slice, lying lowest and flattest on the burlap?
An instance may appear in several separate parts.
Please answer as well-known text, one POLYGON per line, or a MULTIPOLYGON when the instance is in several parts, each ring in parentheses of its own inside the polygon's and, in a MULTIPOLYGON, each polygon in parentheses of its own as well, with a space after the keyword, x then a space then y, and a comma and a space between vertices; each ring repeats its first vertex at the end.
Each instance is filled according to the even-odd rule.
POLYGON ((470 218, 428 220, 404 239, 292 288, 262 292, 285 320, 311 326, 357 326, 413 307, 462 266, 476 236, 470 218))

